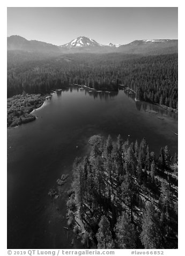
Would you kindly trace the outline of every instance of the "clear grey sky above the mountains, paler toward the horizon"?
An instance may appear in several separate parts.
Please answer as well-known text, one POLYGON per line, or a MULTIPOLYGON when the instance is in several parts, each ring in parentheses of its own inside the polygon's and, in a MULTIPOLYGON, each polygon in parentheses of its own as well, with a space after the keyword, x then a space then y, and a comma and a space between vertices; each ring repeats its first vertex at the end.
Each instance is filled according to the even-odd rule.
POLYGON ((8 36, 55 45, 84 35, 100 44, 177 39, 177 8, 8 8, 8 36))

